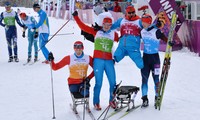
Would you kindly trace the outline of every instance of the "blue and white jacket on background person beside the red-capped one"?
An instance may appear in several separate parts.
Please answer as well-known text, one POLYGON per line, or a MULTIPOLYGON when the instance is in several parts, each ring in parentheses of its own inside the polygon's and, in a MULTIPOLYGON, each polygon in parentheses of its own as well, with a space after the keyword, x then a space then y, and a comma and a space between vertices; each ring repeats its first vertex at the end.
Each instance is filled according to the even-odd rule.
POLYGON ((34 27, 37 29, 39 29, 39 33, 48 33, 50 32, 49 30, 49 20, 47 17, 47 14, 45 11, 43 11, 42 9, 40 9, 38 11, 39 14, 39 21, 38 24, 36 24, 34 27))

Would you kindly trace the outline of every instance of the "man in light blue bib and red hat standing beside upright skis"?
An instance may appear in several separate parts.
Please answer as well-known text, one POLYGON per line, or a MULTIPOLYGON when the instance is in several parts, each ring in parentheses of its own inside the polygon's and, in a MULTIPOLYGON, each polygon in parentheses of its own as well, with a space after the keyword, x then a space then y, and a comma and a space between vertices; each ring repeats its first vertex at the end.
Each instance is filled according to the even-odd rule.
POLYGON ((165 35, 158 29, 156 25, 151 25, 152 17, 148 14, 142 16, 142 24, 144 29, 141 31, 141 37, 144 42, 143 61, 144 68, 141 69, 142 74, 142 107, 149 105, 148 92, 148 78, 152 71, 155 88, 155 102, 158 96, 159 74, 160 74, 160 58, 158 54, 160 39, 167 42, 165 35))

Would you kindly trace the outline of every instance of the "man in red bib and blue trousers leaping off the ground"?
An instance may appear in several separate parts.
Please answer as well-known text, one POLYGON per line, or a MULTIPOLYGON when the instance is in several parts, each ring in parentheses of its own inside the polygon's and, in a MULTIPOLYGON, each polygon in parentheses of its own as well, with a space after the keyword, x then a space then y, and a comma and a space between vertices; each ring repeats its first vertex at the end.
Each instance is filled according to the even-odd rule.
POLYGON ((121 37, 119 45, 114 53, 116 62, 121 61, 125 56, 129 56, 139 69, 143 68, 143 60, 140 53, 140 31, 142 23, 135 14, 135 8, 128 6, 125 18, 118 19, 111 29, 120 27, 121 37))

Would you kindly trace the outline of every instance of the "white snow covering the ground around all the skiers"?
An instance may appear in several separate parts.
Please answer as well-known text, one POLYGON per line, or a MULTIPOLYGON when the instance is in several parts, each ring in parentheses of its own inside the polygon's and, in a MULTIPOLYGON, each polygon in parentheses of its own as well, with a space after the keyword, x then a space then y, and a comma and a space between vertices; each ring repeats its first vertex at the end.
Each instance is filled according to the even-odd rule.
MULTIPOLYGON (((1 11, 4 8, 0 8, 1 11)), ((27 14, 36 16, 32 9, 22 8, 27 14)), ((66 20, 49 18, 51 35, 53 35, 66 20)), ((7 43, 5 40, 4 28, 0 27, 0 120, 50 120, 52 119, 52 97, 51 77, 54 82, 55 112, 57 120, 75 120, 76 117, 70 109, 72 103, 69 94, 67 77, 68 67, 53 71, 49 65, 42 64, 44 57, 39 52, 40 61, 32 66, 23 66, 27 59, 27 38, 22 38, 21 28, 18 27, 18 53, 19 63, 8 63, 7 43)), ((55 36, 47 44, 47 48, 53 52, 55 62, 61 60, 65 55, 73 53, 73 43, 81 40, 85 45, 84 52, 93 54, 93 43, 84 40, 80 35, 80 29, 74 21, 70 21, 60 32, 74 33, 71 35, 55 36)), ((51 36, 50 36, 51 37, 51 36)), ((117 47, 117 44, 115 44, 117 47)), ((161 62, 164 53, 160 52, 161 62)), ((122 85, 141 86, 141 75, 139 69, 125 57, 115 65, 117 83, 121 80, 122 85)), ((91 69, 90 69, 91 71, 91 69)), ((163 104, 160 111, 155 110, 153 80, 149 79, 149 101, 150 106, 146 109, 133 111, 124 120, 197 120, 200 116, 200 58, 198 55, 189 52, 187 48, 172 53, 171 68, 168 76, 163 104)), ((104 75, 103 87, 101 90, 102 111, 95 111, 92 105, 94 78, 91 81, 90 107, 95 117, 98 118, 101 112, 108 105, 108 81, 104 75)), ((141 91, 136 96, 135 104, 141 104, 141 91)), ((78 106, 78 112, 82 116, 83 107, 78 106)), ((112 111, 112 110, 110 110, 112 111)), ((109 120, 115 120, 123 112, 113 116, 109 120)), ((86 115, 86 120, 89 120, 86 115)))

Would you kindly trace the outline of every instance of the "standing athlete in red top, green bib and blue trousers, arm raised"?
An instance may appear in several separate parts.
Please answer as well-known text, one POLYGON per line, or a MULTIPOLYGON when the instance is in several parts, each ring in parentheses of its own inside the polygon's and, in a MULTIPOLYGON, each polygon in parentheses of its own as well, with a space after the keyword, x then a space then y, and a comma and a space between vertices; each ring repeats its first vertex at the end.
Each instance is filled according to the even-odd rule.
POLYGON ((110 30, 112 26, 112 19, 105 17, 102 23, 102 29, 96 30, 93 27, 85 25, 78 17, 78 12, 73 13, 74 19, 81 30, 92 34, 94 36, 94 75, 95 86, 93 95, 93 104, 96 110, 101 110, 100 107, 100 92, 103 82, 103 73, 105 71, 110 85, 109 103, 111 107, 115 108, 113 102, 113 91, 116 85, 116 75, 112 56, 112 47, 114 41, 118 41, 118 34, 110 30))

